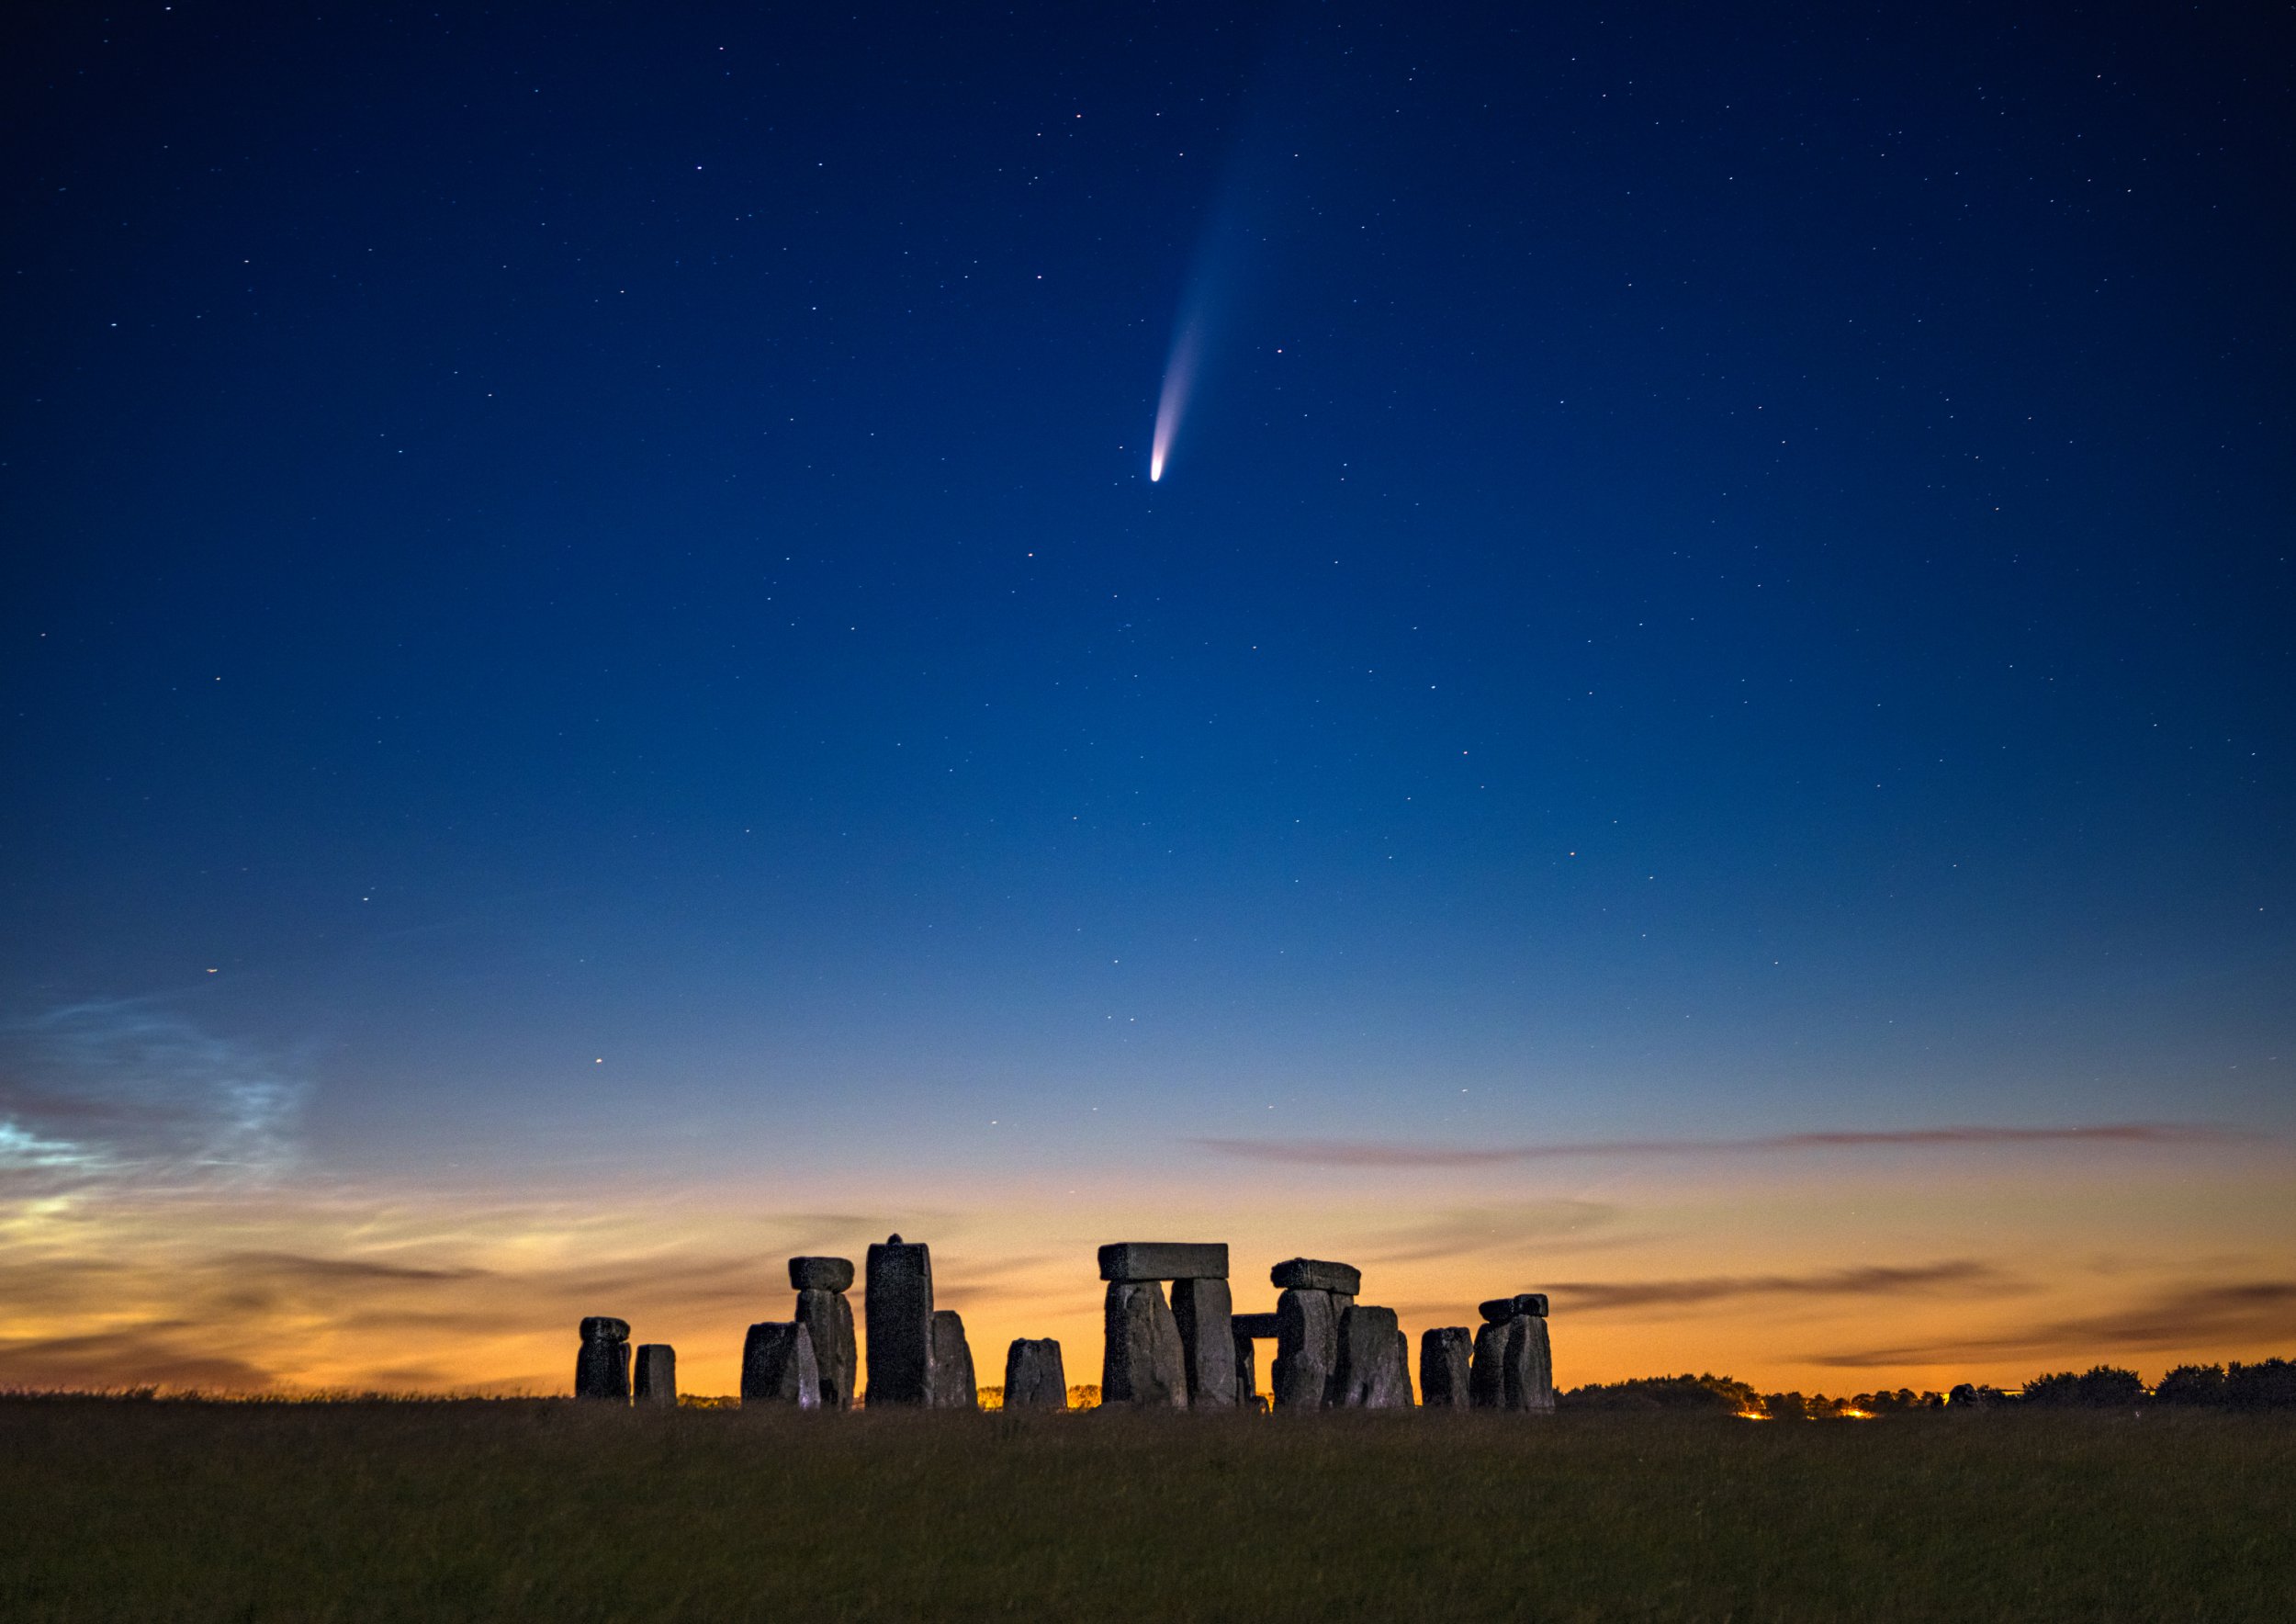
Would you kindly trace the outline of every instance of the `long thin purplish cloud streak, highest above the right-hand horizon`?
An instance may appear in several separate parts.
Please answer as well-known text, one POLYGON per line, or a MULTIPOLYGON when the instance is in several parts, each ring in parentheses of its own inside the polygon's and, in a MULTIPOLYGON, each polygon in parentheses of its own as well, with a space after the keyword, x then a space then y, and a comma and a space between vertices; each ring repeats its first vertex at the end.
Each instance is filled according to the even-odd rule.
POLYGON ((1947 1149, 1970 1144, 2236 1144, 2259 1135, 2197 1123, 2089 1123, 2071 1128, 1871 1128, 1777 1132, 1759 1139, 1582 1139, 1575 1144, 1380 1144, 1373 1139, 1189 1139, 1242 1162, 1300 1167, 1511 1167, 1603 1155, 1754 1155, 1775 1151, 1947 1149))

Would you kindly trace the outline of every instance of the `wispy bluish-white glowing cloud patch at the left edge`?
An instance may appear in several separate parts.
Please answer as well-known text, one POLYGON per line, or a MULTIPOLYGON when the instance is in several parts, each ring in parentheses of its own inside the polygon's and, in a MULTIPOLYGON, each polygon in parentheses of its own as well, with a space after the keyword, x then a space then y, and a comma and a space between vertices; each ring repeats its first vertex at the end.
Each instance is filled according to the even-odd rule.
POLYGON ((264 1181, 294 1162, 310 1084, 147 999, 0 1029, 0 1197, 264 1181))

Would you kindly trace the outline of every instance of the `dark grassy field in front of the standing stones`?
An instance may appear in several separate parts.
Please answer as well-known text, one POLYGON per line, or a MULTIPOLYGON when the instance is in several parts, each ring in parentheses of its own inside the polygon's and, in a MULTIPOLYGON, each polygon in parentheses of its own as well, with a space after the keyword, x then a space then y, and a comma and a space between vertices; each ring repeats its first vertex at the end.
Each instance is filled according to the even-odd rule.
POLYGON ((2296 1417, 0 1401, 0 1617, 2287 1619, 2296 1417))

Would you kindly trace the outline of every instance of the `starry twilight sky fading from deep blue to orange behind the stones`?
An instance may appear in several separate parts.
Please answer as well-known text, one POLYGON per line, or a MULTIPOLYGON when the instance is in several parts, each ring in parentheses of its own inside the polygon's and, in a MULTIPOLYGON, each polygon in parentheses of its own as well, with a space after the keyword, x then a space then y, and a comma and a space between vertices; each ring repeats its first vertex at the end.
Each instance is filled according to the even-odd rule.
POLYGON ((0 1385, 2296 1353, 2287 14, 57 11, 0 1385))

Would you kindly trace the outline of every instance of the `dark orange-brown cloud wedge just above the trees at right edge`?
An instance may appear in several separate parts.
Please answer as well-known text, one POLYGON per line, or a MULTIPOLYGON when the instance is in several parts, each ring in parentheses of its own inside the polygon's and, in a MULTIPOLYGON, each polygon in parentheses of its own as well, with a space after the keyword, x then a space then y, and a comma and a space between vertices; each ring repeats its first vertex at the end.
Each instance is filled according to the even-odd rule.
POLYGON ((2255 1344, 2250 1358, 2282 1353, 2296 1341, 2296 1279, 2245 1279, 2186 1286, 2112 1314, 2025 1325, 1979 1337, 1945 1337, 1892 1348, 1812 1353, 1809 1364, 1867 1369, 1876 1364, 1954 1364, 2011 1355, 2092 1360, 2122 1351, 2255 1344))

